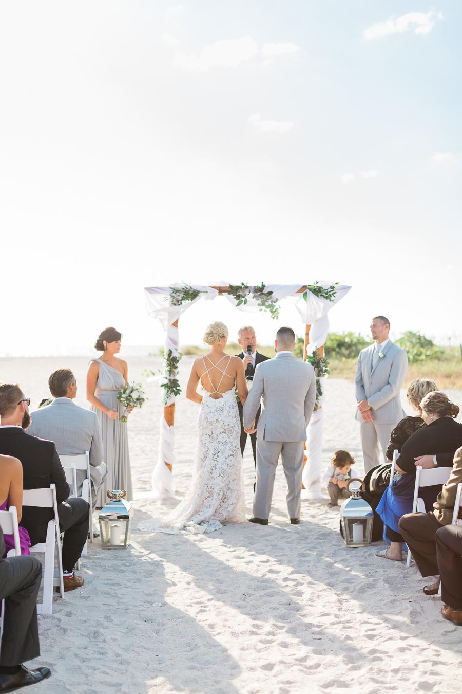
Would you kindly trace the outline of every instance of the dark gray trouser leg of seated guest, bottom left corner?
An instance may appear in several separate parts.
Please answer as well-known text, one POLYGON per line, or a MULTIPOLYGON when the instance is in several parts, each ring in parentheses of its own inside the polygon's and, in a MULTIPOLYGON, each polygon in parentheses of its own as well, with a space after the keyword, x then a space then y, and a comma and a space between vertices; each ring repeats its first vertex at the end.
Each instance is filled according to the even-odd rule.
POLYGON ((40 655, 37 594, 42 564, 35 557, 0 561, 0 600, 5 600, 1 666, 15 666, 40 655))

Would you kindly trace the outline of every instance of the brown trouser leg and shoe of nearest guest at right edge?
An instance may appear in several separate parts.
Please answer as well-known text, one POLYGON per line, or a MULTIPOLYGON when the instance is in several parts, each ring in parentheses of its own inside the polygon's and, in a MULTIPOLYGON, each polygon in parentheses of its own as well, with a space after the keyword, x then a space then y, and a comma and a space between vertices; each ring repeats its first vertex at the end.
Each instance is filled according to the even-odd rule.
POLYGON ((436 561, 441 575, 443 618, 462 626, 462 527, 446 525, 436 531, 436 561))

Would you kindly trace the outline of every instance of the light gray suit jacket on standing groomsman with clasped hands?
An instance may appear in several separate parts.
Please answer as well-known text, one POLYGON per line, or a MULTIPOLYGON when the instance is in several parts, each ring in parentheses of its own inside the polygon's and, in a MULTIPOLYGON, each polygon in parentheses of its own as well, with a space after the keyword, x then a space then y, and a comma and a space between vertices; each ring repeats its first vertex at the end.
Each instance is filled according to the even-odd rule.
MULTIPOLYGON (((391 340, 383 348, 384 358, 372 368, 375 342, 359 352, 355 375, 357 400, 367 400, 377 424, 396 424, 406 416, 400 390, 407 373, 407 354, 391 340)), ((357 410, 356 419, 363 421, 357 410)))

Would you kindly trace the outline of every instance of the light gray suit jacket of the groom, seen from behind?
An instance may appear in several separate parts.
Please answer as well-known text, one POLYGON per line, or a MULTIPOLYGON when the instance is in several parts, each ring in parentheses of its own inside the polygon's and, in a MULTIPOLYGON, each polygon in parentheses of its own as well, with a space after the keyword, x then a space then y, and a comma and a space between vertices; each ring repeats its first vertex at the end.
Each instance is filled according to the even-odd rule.
POLYGON ((316 376, 311 364, 301 362, 290 353, 280 353, 258 364, 244 405, 246 429, 255 419, 260 398, 263 398, 263 410, 258 420, 257 439, 306 440, 306 428, 316 400, 316 376))

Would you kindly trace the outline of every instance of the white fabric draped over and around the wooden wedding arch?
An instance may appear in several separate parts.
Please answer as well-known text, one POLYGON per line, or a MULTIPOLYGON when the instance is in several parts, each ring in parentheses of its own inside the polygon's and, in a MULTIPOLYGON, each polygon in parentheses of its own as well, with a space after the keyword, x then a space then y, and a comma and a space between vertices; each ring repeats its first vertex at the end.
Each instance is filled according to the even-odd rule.
MULTIPOLYGON (((229 282, 220 281, 215 284, 215 287, 225 287, 228 285, 229 282)), ((319 285, 327 289, 332 285, 332 282, 319 282, 319 285)), ((170 305, 170 291, 171 289, 181 289, 184 287, 180 282, 176 282, 174 285, 168 287, 145 287, 146 310, 152 318, 156 318, 161 322, 163 329, 166 331, 166 352, 171 350, 173 356, 177 356, 179 353, 179 337, 178 329, 174 328, 172 323, 175 323, 181 314, 199 301, 200 298, 214 299, 215 296, 218 296, 217 289, 213 289, 212 287, 207 287, 205 285, 188 286, 197 289, 201 294, 193 301, 186 301, 179 306, 170 305)), ((265 291, 272 291, 274 298, 277 298, 278 301, 282 301, 288 296, 299 297, 296 302, 296 309, 301 316, 303 324, 311 325, 310 344, 308 345, 308 354, 311 355, 315 349, 321 347, 321 345, 326 342, 329 330, 328 312, 341 300, 341 298, 344 298, 351 287, 337 285, 337 287, 335 287, 335 298, 332 301, 314 296, 314 294, 308 291, 307 300, 305 301, 303 294, 297 294, 297 290, 301 289, 302 286, 303 285, 265 285, 265 291)), ((259 307, 258 300, 251 296, 253 290, 254 287, 250 287, 246 305, 236 306, 236 299, 233 296, 230 294, 225 294, 224 296, 226 296, 228 301, 238 308, 238 310, 254 312, 258 311, 259 307)), ((323 398, 321 398, 321 400, 322 399, 323 398)), ((173 402, 175 402, 175 398, 172 397, 167 404, 171 405, 173 402)), ((321 407, 317 412, 313 412, 308 427, 308 462, 303 470, 303 484, 306 489, 302 491, 302 498, 322 498, 323 419, 324 411, 321 407)), ((175 494, 175 480, 165 464, 168 463, 173 465, 175 463, 174 441, 174 427, 169 426, 162 416, 160 422, 159 457, 152 471, 152 491, 157 498, 167 498, 175 494)))

